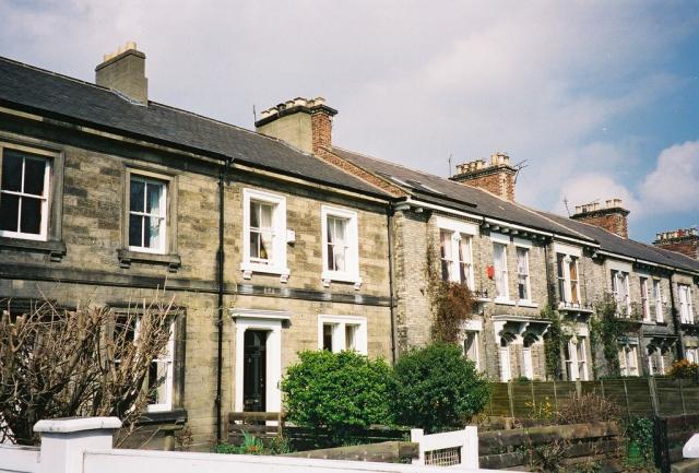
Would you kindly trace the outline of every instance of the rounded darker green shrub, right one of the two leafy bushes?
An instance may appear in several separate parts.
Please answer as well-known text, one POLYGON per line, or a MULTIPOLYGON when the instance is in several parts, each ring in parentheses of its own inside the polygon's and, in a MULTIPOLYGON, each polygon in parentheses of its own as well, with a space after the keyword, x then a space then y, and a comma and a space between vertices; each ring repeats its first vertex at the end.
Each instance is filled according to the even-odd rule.
POLYGON ((395 421, 427 431, 463 426, 485 407, 488 394, 488 381, 453 344, 413 350, 393 369, 395 421))

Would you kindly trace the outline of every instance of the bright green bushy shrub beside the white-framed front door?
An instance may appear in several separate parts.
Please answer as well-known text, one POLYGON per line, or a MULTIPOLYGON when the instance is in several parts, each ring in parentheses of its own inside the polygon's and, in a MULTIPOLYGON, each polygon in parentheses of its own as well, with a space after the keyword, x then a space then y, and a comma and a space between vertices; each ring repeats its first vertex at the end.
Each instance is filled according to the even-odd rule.
POLYGON ((391 368, 382 359, 355 352, 301 352, 282 381, 287 419, 327 427, 334 444, 352 441, 353 431, 389 424, 391 368))

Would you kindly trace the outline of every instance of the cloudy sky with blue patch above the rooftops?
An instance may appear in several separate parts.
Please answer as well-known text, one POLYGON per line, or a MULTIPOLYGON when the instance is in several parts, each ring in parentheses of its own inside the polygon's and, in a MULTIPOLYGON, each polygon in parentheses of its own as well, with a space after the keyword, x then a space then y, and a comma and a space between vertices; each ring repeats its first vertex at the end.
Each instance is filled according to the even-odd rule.
POLYGON ((448 174, 506 151, 518 200, 619 197, 631 236, 699 224, 698 1, 8 1, 0 55, 94 80, 135 40, 150 96, 247 128, 321 95, 334 142, 448 174))

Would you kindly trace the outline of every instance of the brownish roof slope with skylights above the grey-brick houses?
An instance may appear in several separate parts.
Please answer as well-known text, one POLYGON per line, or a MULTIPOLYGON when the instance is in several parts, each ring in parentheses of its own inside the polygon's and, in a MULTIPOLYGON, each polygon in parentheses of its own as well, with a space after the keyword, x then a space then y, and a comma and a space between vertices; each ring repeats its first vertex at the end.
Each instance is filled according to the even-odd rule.
POLYGON ((422 201, 499 218, 535 229, 592 240, 592 238, 577 232, 574 228, 560 225, 528 208, 502 200, 485 190, 341 147, 333 147, 333 153, 366 170, 386 177, 422 201))

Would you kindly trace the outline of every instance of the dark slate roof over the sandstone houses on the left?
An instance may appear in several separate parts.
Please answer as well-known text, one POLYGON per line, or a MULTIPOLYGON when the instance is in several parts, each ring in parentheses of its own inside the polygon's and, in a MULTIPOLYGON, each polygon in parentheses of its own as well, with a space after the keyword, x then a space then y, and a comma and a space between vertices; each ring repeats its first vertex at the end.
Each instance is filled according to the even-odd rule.
POLYGON ((132 138, 386 197, 374 186, 275 139, 0 57, 0 104, 132 138))

